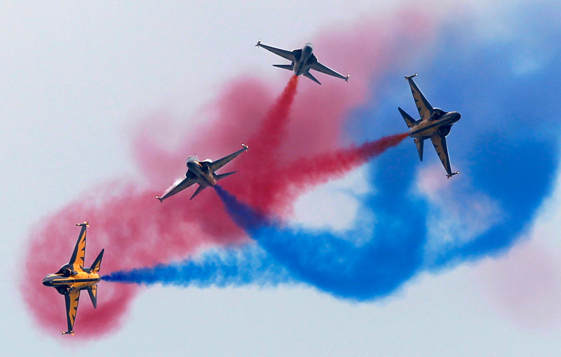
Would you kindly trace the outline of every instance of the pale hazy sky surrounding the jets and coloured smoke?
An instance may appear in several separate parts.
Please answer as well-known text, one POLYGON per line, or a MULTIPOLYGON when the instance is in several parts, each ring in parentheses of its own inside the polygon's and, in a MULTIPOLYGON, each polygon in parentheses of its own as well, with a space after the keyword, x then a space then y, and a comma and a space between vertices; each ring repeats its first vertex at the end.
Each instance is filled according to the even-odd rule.
MULTIPOLYGON (((513 36, 511 27, 496 20, 510 5, 505 1, 488 8, 486 2, 468 1, 462 11, 473 13, 478 39, 486 41, 513 36)), ((410 1, 392 6, 407 8, 410 1)), ((454 15, 454 8, 439 1, 427 6, 437 14, 454 15)), ((119 330, 77 343, 58 335, 65 326, 52 331, 36 327, 21 301, 25 292, 20 292, 18 279, 22 269, 34 267, 20 262, 27 254, 29 231, 44 223, 42 217, 100 182, 123 177, 143 181, 130 153, 136 121, 163 111, 195 127, 204 121, 197 116, 201 107, 223 83, 238 76, 278 83, 280 92, 288 73, 271 67, 276 58, 255 48, 257 39, 297 48, 328 29, 351 26, 358 19, 374 21, 386 13, 391 8, 375 1, 1 3, 0 231, 1 267, 8 276, 0 305, 4 351, 60 356, 83 344, 101 356, 557 356, 558 183, 534 213, 526 238, 508 254, 419 274, 398 292, 374 302, 337 299, 304 284, 225 289, 158 285, 143 288, 119 330)), ((522 20, 517 27, 532 18, 522 20)), ((410 27, 415 31, 414 21, 410 27)), ((315 50, 329 65, 320 48, 315 50)), ((525 65, 516 67, 521 74, 541 65, 539 56, 521 62, 525 65)), ((412 108, 405 81, 400 85, 405 105, 412 108)), ((396 121, 401 120, 395 107, 392 110, 396 121)), ((466 123, 461 128, 475 130, 466 123)), ((407 145, 416 158, 413 144, 407 145)), ((431 149, 426 147, 425 156, 433 155, 431 149)), ((427 163, 416 173, 420 189, 426 184, 421 175, 442 171, 439 165, 427 163)), ((560 182, 557 168, 555 173, 560 182)), ((343 231, 360 215, 355 195, 376 189, 367 175, 359 169, 302 196, 295 207, 297 221, 343 231), (312 209, 316 206, 321 210, 312 209), (341 212, 336 210, 339 206, 344 206, 341 212)), ((93 260, 94 254, 89 251, 86 260, 93 260)), ((100 283, 100 294, 104 284, 100 283)), ((81 304, 89 304, 86 297, 81 304)), ((60 306, 53 309, 64 314, 62 296, 60 306)), ((80 311, 76 324, 79 316, 80 311)))

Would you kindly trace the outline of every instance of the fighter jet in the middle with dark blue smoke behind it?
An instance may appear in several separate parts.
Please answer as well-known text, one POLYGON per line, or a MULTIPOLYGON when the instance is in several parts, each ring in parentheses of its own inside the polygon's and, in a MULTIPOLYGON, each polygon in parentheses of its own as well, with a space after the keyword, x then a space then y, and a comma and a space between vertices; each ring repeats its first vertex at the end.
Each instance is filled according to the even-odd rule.
POLYGON ((222 168, 222 166, 226 165, 230 161, 236 159, 236 157, 243 151, 249 150, 248 145, 242 143, 241 146, 243 147, 243 149, 234 152, 234 154, 224 156, 222 159, 219 159, 217 161, 211 161, 210 159, 199 161, 196 156, 189 156, 187 158, 188 170, 187 173, 185 173, 184 180, 170 187, 167 191, 165 191, 163 196, 156 196, 156 198, 158 198, 158 200, 162 202, 163 200, 165 200, 165 198, 173 196, 177 194, 177 192, 187 189, 187 187, 191 186, 191 184, 197 183, 197 190, 195 191, 193 196, 189 198, 189 200, 192 200, 196 195, 200 194, 203 189, 215 186, 218 180, 222 180, 224 177, 236 173, 236 171, 234 171, 231 173, 222 173, 220 175, 217 175, 215 171, 219 168, 222 168))

